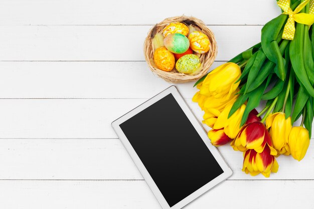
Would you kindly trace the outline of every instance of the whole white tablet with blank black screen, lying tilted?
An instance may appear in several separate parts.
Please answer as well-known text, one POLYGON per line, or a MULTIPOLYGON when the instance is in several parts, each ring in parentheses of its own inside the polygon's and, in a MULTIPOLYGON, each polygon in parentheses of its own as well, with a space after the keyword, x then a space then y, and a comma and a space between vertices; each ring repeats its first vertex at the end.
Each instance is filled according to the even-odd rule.
POLYGON ((175 86, 112 127, 163 208, 182 208, 232 174, 175 86))

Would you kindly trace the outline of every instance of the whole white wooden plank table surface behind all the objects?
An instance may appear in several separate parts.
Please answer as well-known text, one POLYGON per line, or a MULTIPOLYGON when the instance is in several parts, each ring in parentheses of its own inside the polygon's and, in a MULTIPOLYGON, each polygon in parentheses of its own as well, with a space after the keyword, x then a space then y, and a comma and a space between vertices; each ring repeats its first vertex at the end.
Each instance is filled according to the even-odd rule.
MULTIPOLYGON (((193 15, 216 35, 218 66, 259 42, 274 0, 0 2, 0 208, 161 208, 110 123, 171 84, 142 45, 164 18, 193 15), (195 4, 197 3, 197 4, 195 4)), ((201 120, 193 83, 177 88, 201 120)), ((314 208, 314 143, 266 179, 241 171, 186 208, 314 208)))

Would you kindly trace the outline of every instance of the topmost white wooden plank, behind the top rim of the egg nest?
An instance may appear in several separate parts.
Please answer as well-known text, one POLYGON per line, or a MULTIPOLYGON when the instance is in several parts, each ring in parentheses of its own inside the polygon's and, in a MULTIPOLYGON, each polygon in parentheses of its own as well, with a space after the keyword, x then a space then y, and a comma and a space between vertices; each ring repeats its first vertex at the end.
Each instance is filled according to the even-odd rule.
POLYGON ((112 1, 10 1, 0 4, 0 25, 154 25, 167 17, 195 16, 210 25, 265 24, 280 14, 272 0, 190 1, 161 0, 148 4, 112 1), (144 17, 144 18, 143 18, 144 17))

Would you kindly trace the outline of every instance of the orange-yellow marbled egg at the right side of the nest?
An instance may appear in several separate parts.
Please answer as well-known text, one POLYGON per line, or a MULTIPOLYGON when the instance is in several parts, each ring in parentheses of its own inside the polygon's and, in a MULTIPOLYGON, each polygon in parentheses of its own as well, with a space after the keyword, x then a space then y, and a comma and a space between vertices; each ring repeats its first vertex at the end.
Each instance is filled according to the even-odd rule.
POLYGON ((190 41, 190 46, 191 49, 194 52, 204 54, 209 51, 211 47, 211 43, 209 41, 208 36, 206 34, 199 32, 199 31, 194 31, 189 35, 189 41, 190 41))

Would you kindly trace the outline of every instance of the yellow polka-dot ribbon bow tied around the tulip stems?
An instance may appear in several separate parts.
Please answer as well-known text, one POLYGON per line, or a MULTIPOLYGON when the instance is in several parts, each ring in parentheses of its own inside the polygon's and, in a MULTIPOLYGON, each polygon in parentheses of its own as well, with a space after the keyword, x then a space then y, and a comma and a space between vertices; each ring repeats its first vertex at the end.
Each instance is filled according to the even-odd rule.
POLYGON ((312 25, 314 23, 314 1, 310 1, 309 14, 299 13, 307 4, 309 0, 302 2, 294 11, 290 8, 290 0, 279 0, 277 5, 284 11, 284 15, 289 15, 287 23, 284 26, 282 39, 293 40, 295 27, 294 21, 304 25, 312 25))

